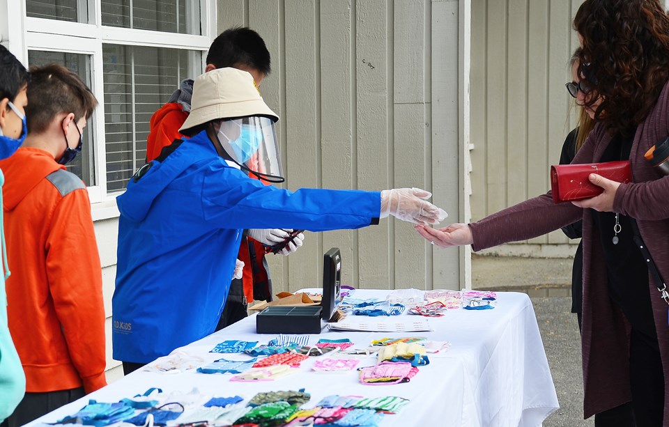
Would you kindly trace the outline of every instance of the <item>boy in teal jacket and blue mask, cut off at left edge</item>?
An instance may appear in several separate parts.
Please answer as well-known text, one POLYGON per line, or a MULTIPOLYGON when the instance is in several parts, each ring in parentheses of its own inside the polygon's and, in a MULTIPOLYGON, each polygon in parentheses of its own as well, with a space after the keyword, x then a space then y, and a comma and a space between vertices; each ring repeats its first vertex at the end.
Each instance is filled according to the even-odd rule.
MULTIPOLYGON (((21 146, 26 137, 25 107, 29 74, 6 47, 0 45, 0 159, 21 146)), ((0 171, 0 186, 4 177, 0 171)), ((0 192, 0 201, 2 192, 0 192)), ((26 377, 7 325, 5 280, 9 277, 5 233, 0 212, 0 241, 3 272, 0 274, 0 422, 10 416, 23 398, 26 377)))

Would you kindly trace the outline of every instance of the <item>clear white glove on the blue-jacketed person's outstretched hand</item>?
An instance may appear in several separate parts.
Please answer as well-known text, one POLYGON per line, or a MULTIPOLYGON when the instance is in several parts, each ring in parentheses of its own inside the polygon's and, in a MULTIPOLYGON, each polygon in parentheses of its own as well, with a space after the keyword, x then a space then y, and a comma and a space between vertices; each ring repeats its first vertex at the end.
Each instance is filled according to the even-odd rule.
POLYGON ((448 214, 426 201, 432 196, 420 188, 394 188, 381 192, 380 217, 392 215, 414 224, 439 224, 448 214))

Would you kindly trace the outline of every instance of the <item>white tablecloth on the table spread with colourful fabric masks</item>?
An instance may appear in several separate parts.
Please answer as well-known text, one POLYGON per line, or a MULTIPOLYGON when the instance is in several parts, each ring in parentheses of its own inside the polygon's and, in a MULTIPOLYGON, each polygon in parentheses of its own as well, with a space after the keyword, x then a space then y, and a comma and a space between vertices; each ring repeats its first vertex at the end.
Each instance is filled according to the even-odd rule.
MULTIPOLYGON (((355 297, 384 297, 384 290, 357 290, 355 297)), ((406 314, 405 314, 406 315, 406 314)), ((215 332, 185 349, 197 352, 208 361, 230 355, 209 353, 227 339, 267 343, 277 334, 256 334, 251 316, 222 331, 215 332)), ((305 388, 313 406, 331 394, 355 396, 401 396, 410 399, 399 414, 387 415, 383 426, 540 426, 557 409, 557 395, 546 353, 539 335, 532 302, 523 293, 498 293, 498 304, 491 310, 453 310, 442 318, 430 318, 433 332, 378 333, 330 332, 312 335, 310 344, 320 338, 348 338, 367 346, 383 336, 426 336, 449 341, 447 352, 429 355, 431 363, 421 366, 408 383, 366 386, 357 372, 318 374, 310 371, 312 359, 302 362, 300 372, 272 382, 229 382, 231 375, 206 375, 187 371, 167 374, 135 371, 93 394, 61 407, 34 421, 54 423, 81 409, 90 398, 115 402, 141 394, 150 387, 163 391, 199 391, 213 396, 242 396, 247 401, 260 391, 305 388)), ((376 356, 362 359, 359 366, 371 366, 376 356)))

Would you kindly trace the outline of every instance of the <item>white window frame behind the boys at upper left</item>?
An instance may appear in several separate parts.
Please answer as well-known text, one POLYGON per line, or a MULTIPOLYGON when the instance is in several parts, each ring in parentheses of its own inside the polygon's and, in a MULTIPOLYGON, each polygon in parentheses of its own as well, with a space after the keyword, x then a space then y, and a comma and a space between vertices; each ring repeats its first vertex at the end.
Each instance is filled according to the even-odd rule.
MULTIPOLYGON (((88 0, 90 24, 26 17, 24 1, 0 0, 0 42, 6 45, 22 63, 27 63, 29 50, 68 52, 91 56, 91 91, 99 102, 93 120, 89 121, 95 143, 95 164, 93 166, 95 168, 96 185, 88 187, 88 191, 93 219, 95 220, 117 217, 116 196, 122 193, 107 194, 102 44, 200 51, 202 52, 202 61, 199 64, 201 68, 200 70, 191 70, 194 77, 204 69, 206 51, 217 36, 217 0, 199 1, 202 23, 201 36, 102 26, 100 0, 88 0)), ((86 0, 79 0, 79 2, 86 4, 86 0)), ((197 68, 197 66, 193 66, 193 68, 197 68)))

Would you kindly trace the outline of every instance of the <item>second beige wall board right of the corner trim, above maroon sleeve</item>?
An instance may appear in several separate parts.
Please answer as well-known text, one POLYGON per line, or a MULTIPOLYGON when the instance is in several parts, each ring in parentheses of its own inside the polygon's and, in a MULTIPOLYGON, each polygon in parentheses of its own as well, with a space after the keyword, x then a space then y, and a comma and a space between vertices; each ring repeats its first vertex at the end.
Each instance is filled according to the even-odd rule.
POLYGON ((507 207, 507 1, 488 1, 486 40, 486 197, 488 212, 507 207))

